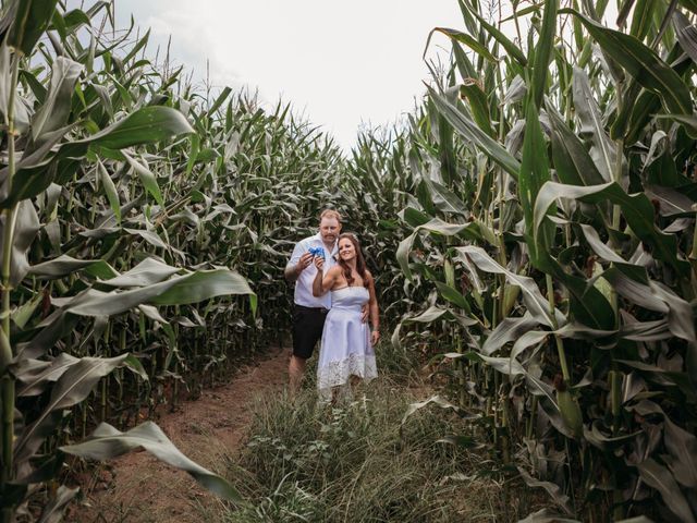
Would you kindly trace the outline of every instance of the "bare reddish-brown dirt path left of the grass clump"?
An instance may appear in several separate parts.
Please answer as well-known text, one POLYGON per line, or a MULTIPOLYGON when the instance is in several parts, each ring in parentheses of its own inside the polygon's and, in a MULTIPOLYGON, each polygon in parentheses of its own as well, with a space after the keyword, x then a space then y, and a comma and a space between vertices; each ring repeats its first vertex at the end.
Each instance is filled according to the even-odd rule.
MULTIPOLYGON (((252 399, 286 381, 289 351, 271 351, 256 366, 242 369, 232 382, 206 390, 157 423, 167 436, 199 464, 221 471, 224 453, 237 449, 250 421, 252 399)), ((105 465, 83 485, 83 507, 68 514, 80 523, 155 523, 200 521, 196 506, 217 498, 186 473, 163 465, 146 452, 126 454, 105 465)))

